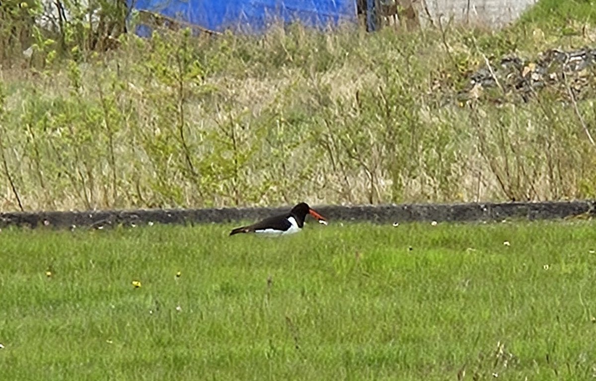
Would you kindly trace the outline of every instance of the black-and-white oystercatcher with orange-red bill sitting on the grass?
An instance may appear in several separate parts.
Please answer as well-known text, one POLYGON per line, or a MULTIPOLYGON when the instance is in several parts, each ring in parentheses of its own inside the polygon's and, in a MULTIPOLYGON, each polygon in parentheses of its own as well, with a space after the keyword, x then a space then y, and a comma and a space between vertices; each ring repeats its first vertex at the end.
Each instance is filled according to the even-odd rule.
POLYGON ((315 217, 319 223, 327 224, 325 217, 312 210, 306 202, 300 202, 300 204, 292 208, 290 213, 265 218, 265 220, 249 226, 237 227, 229 235, 233 236, 238 233, 268 233, 276 235, 296 233, 304 226, 304 219, 307 214, 315 217))

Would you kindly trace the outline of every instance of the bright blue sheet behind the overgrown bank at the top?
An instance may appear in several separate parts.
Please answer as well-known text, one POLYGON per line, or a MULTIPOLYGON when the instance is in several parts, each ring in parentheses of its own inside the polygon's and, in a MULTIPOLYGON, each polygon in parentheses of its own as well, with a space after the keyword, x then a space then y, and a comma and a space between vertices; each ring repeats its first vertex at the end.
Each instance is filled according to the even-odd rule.
MULTIPOLYGON (((136 10, 162 14, 204 29, 259 32, 271 23, 300 21, 309 27, 356 22, 355 0, 128 0, 136 10)), ((139 33, 140 31, 138 31, 139 33)))

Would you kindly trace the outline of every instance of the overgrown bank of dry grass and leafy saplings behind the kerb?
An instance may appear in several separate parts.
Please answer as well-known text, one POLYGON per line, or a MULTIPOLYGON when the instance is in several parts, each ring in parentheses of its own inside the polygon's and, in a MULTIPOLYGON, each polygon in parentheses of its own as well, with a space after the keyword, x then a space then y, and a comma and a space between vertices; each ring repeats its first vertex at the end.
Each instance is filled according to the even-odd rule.
POLYGON ((507 30, 178 32, 2 69, 0 208, 592 197, 594 149, 560 94, 456 100, 483 57, 592 43, 581 29, 539 46, 507 30))

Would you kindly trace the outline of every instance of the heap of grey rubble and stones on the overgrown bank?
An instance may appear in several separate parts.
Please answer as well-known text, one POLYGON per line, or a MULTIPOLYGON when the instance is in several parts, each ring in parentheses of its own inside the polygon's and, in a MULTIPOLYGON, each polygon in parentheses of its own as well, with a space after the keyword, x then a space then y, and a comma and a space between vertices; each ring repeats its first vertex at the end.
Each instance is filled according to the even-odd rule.
POLYGON ((524 61, 516 55, 502 58, 498 64, 485 65, 470 76, 468 86, 458 94, 458 100, 480 98, 489 88, 502 95, 520 95, 524 101, 544 88, 573 93, 576 99, 591 88, 596 79, 596 49, 576 51, 551 49, 539 54, 536 60, 524 61))

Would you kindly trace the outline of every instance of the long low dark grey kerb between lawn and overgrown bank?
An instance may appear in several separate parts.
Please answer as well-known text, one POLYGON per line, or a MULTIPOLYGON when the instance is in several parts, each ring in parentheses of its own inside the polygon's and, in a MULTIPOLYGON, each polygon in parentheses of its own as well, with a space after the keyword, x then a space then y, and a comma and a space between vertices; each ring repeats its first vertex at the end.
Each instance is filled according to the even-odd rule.
MULTIPOLYGON (((504 218, 525 218, 544 220, 565 218, 585 214, 593 216, 596 201, 570 202, 507 202, 502 204, 403 204, 314 206, 330 221, 371 221, 394 223, 409 221, 500 221, 504 218)), ((285 208, 212 208, 172 210, 105 210, 65 211, 35 213, 0 213, 0 227, 5 226, 52 226, 60 228, 94 227, 96 229, 119 224, 187 224, 227 223, 232 221, 253 221, 275 213, 288 211, 285 208)))

